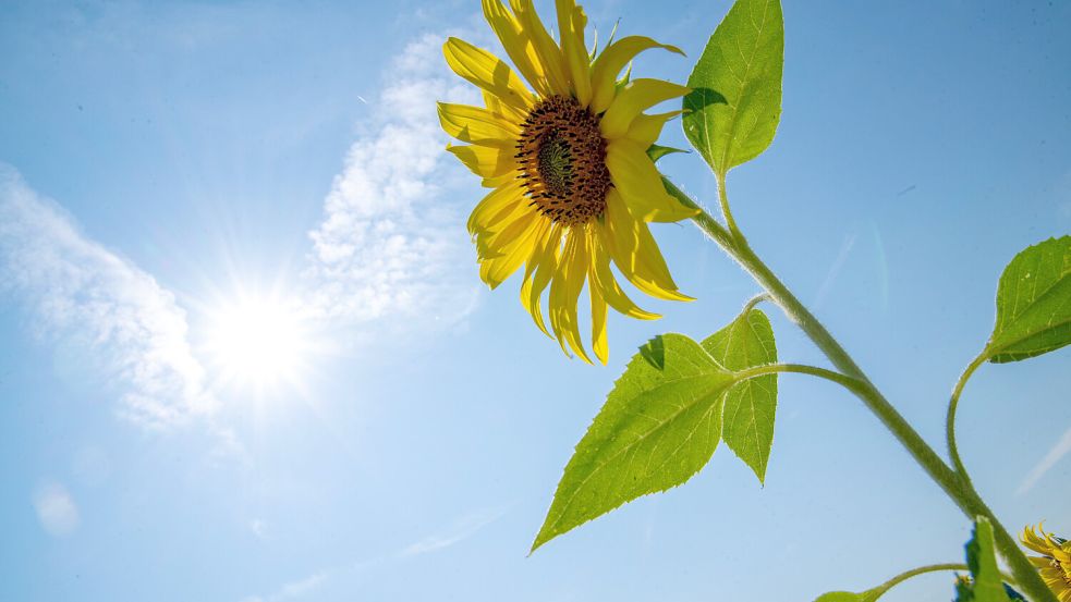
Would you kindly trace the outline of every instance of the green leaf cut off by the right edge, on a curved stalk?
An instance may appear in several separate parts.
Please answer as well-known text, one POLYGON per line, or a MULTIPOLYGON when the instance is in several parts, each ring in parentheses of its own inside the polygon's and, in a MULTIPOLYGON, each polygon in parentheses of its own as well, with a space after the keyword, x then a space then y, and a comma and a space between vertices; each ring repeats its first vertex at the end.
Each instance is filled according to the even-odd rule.
POLYGON ((1019 361, 1071 343, 1071 236, 1015 256, 997 286, 997 324, 986 346, 995 364, 1019 361))

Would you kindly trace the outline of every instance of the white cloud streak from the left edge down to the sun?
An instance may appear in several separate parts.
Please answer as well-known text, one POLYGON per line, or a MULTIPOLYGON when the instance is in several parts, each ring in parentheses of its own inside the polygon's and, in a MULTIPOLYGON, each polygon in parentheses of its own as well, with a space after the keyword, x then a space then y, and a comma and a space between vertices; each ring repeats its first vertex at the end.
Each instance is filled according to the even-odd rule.
POLYGON ((3 164, 0 288, 24 300, 41 335, 121 384, 124 417, 160 428, 212 409, 174 295, 3 164))

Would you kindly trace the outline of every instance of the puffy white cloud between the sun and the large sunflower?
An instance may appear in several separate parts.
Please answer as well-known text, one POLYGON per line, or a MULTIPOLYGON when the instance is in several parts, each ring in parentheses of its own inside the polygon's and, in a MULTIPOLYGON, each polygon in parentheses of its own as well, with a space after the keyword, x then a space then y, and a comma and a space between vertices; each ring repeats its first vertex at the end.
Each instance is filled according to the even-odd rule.
POLYGON ((477 97, 447 72, 442 39, 417 39, 388 69, 376 116, 350 147, 322 222, 309 233, 311 304, 324 318, 449 324, 473 307, 477 284, 463 207, 478 193, 459 195, 463 202, 450 198, 458 172, 447 163, 435 101, 477 97))

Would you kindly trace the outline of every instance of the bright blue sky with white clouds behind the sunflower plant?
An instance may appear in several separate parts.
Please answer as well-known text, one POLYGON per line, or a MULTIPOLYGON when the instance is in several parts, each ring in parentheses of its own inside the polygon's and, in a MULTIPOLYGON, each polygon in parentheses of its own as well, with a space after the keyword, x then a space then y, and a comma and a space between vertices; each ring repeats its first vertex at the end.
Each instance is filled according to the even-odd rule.
MULTIPOLYGON (((730 175, 737 220, 939 445, 1000 270, 1071 231, 1071 7, 787 4, 781 126, 730 175)), ((586 9, 683 48, 636 64, 683 81, 728 7, 586 9)), ((792 376, 765 488, 721 447, 526 557, 633 349, 756 290, 659 226, 698 300, 611 318, 606 368, 514 282, 483 290, 480 193, 434 112, 473 97, 439 54, 457 34, 491 46, 477 2, 0 5, 0 598, 811 600, 959 558, 967 523, 877 421, 792 376), (300 341, 245 349, 272 378, 220 351, 251 299, 300 341)), ((714 198, 694 155, 662 165, 714 198)), ((821 361, 771 318, 783 359, 821 361)), ((1069 357, 966 390, 961 451, 1010 528, 1071 533, 1069 357)))

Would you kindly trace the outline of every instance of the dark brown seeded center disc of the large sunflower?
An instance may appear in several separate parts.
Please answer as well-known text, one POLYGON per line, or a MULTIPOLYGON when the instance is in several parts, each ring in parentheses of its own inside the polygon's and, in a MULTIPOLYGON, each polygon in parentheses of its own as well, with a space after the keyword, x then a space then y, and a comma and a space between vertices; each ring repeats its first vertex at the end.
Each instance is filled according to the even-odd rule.
POLYGON ((579 225, 606 210, 610 170, 599 120, 565 96, 537 103, 516 144, 521 184, 532 205, 555 222, 579 225))

